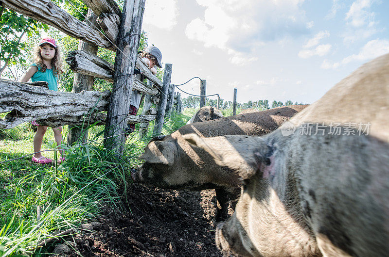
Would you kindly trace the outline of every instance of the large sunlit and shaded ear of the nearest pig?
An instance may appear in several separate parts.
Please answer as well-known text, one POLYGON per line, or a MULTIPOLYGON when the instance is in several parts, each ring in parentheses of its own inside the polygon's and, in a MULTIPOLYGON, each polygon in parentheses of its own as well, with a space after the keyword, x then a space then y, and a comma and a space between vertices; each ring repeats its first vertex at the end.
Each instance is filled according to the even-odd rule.
POLYGON ((271 148, 260 137, 228 135, 200 138, 196 134, 182 137, 190 145, 206 150, 218 165, 233 170, 243 179, 255 175, 262 164, 269 165, 271 148))

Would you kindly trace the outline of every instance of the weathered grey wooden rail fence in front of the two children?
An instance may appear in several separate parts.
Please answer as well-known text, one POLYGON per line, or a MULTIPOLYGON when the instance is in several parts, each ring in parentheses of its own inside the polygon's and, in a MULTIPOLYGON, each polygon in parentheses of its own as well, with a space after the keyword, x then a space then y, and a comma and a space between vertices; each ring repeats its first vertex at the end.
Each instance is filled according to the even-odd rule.
POLYGON ((168 99, 169 91, 174 91, 170 85, 172 65, 165 65, 163 81, 160 81, 137 54, 145 0, 125 0, 123 13, 114 0, 83 1, 89 8, 85 22, 50 0, 0 1, 3 7, 80 39, 78 50, 66 57, 75 72, 72 93, 49 90, 45 83, 0 80, 0 113, 8 112, 0 119, 0 128, 14 128, 31 120, 50 127, 70 125, 68 143, 72 144, 82 131, 74 126, 97 122, 114 128, 106 130, 106 136, 115 136, 105 141, 106 147, 123 152, 120 145, 124 145, 127 123, 148 124, 156 119, 153 134, 161 132, 167 102, 173 98, 168 99), (114 65, 96 55, 98 47, 116 50, 114 65), (147 78, 147 84, 134 79, 135 68, 147 78), (112 93, 90 91, 94 78, 113 82, 112 93), (132 90, 146 96, 141 115, 128 115, 132 90), (153 101, 158 102, 158 110, 150 109, 153 101))

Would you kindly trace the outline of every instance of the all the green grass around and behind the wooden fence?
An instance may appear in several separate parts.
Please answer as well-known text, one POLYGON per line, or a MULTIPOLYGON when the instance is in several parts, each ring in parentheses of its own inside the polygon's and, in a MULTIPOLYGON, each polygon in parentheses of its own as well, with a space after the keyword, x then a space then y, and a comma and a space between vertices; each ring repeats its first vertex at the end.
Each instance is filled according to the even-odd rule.
MULTIPOLYGON (((184 126, 197 110, 172 112, 165 119, 162 134, 184 126)), ((33 153, 35 132, 28 123, 0 129, 0 162, 33 153)), ((91 126, 88 144, 75 144, 66 150, 66 161, 59 165, 36 164, 32 156, 0 164, 0 256, 41 256, 48 248, 39 242, 58 230, 77 227, 96 217, 102 202, 114 209, 123 207, 123 197, 131 167, 152 138, 154 121, 139 140, 139 125, 126 140, 123 156, 103 146, 104 126, 91 126), (38 211, 40 209, 40 211, 38 211), (38 212, 40 218, 38 219, 38 212)), ((63 129, 66 141, 67 126, 63 129)), ((53 150, 53 130, 43 138, 44 156, 57 159, 53 150)), ((67 147, 63 145, 63 148, 67 147)))

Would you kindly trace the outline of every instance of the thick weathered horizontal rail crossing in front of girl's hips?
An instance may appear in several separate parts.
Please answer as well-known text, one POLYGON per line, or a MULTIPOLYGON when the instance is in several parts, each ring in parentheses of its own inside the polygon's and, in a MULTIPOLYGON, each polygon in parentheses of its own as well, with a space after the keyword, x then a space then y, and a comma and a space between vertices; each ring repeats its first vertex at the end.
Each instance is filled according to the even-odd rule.
POLYGON ((106 111, 110 92, 82 91, 62 93, 40 86, 0 80, 0 113, 9 112, 0 120, 0 128, 14 128, 23 122, 38 119, 78 117, 106 111))

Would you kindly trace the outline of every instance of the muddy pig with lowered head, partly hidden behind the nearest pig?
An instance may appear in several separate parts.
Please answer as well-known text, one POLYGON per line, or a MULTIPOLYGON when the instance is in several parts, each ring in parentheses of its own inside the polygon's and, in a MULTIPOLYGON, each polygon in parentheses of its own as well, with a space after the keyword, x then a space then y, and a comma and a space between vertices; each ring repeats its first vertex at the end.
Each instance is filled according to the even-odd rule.
POLYGON ((265 135, 306 106, 280 107, 193 123, 170 135, 157 136, 148 143, 140 157, 145 162, 141 168, 133 170, 131 176, 137 183, 164 189, 214 189, 218 202, 214 222, 225 220, 228 217, 230 199, 235 200, 240 192, 238 176, 217 165, 203 149, 190 147, 182 135, 265 135))

